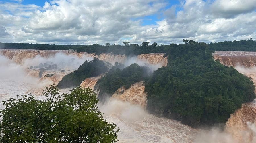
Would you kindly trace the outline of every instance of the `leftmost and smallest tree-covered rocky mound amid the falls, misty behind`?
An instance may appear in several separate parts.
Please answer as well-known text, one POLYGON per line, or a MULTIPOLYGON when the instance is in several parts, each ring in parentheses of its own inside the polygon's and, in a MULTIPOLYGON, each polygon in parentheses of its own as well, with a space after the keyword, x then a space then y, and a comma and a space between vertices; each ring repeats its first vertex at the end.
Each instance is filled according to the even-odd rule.
POLYGON ((104 62, 94 58, 92 61, 85 61, 77 70, 65 75, 57 86, 59 88, 77 87, 86 78, 98 76, 106 71, 108 68, 104 62))

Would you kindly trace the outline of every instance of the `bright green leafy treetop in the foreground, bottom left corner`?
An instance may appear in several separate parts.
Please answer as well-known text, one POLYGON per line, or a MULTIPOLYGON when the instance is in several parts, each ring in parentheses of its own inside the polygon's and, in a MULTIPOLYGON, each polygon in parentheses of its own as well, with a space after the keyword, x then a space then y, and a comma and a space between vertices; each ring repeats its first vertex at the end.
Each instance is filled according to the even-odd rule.
POLYGON ((117 142, 120 131, 104 120, 97 96, 77 87, 57 96, 59 88, 46 87, 46 100, 30 93, 2 101, 0 142, 117 142))

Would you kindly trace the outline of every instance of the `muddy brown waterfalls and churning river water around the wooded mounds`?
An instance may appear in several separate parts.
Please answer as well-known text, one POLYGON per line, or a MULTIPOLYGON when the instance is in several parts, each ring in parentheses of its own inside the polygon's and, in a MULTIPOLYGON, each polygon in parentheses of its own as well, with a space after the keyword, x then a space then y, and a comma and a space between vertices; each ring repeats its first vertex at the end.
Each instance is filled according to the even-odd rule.
MULTIPOLYGON (((167 56, 164 53, 141 54, 137 57, 115 55, 113 53, 100 55, 85 52, 69 53, 65 50, 1 49, 0 53, 1 59, 4 59, 4 62, 0 65, 1 69, 4 69, 1 71, 1 79, 4 80, 8 77, 6 80, 10 80, 9 77, 13 76, 13 81, 6 81, 6 85, 1 85, 3 88, 1 88, 2 93, 0 95, 3 99, 13 97, 17 93, 25 94, 27 92, 32 92, 37 95, 36 98, 41 99, 40 92, 44 86, 59 83, 62 77, 79 68, 85 60, 92 60, 94 57, 110 64, 120 62, 125 66, 129 66, 131 63, 137 63, 140 66, 147 65, 152 70, 166 66, 168 63, 167 56), (39 68, 28 69, 30 66, 38 66, 40 63, 44 64, 49 61, 57 64, 60 69, 45 70, 41 78, 39 78, 39 68), (64 72, 61 72, 62 69, 64 72), (54 75, 49 77, 46 76, 47 74, 54 75), (21 78, 21 76, 24 77, 21 78), (16 87, 16 90, 11 91, 9 89, 9 91, 6 87, 10 85, 16 87), (25 86, 27 88, 24 88, 25 86)), ((256 53, 239 53, 215 52, 213 58, 226 66, 234 66, 236 70, 250 77, 256 84, 256 72, 254 70, 256 53)), ((101 76, 86 78, 80 85, 94 89, 101 76)), ((145 111, 147 95, 144 88, 143 81, 132 84, 128 89, 121 87, 106 103, 100 105, 100 110, 104 112, 104 118, 108 122, 115 122, 121 127, 119 133, 121 142, 205 142, 206 139, 200 136, 202 132, 216 133, 220 136, 228 134, 225 136, 226 142, 231 140, 239 143, 255 142, 255 101, 243 104, 241 109, 236 110, 226 122, 224 131, 214 130, 211 132, 211 130, 193 129, 179 121, 148 114, 145 111)), ((69 89, 62 89, 61 92, 67 92, 69 89)), ((203 136, 207 136, 207 134, 203 136)), ((214 139, 211 142, 214 142, 214 139)))

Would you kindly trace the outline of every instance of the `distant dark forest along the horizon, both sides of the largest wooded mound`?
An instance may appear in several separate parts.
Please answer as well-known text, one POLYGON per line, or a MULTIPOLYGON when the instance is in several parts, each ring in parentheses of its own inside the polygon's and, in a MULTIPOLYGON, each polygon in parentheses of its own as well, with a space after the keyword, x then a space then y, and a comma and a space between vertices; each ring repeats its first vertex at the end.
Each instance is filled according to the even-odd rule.
MULTIPOLYGON (((184 41, 189 43, 189 41, 184 41)), ((192 40, 190 43, 193 42, 192 40)), ((199 43, 199 42, 193 42, 199 43)), ((29 44, 29 43, 1 43, 0 49, 36 49, 36 50, 69 50, 74 49, 77 52, 87 53, 115 53, 126 55, 139 55, 146 53, 165 53, 164 50, 169 45, 157 45, 157 43, 143 42, 142 44, 130 44, 130 42, 123 42, 124 45, 115 45, 106 43, 105 45, 54 45, 54 44, 29 44)), ((209 49, 213 51, 256 51, 256 41, 253 39, 240 41, 224 41, 218 43, 209 43, 209 49)))

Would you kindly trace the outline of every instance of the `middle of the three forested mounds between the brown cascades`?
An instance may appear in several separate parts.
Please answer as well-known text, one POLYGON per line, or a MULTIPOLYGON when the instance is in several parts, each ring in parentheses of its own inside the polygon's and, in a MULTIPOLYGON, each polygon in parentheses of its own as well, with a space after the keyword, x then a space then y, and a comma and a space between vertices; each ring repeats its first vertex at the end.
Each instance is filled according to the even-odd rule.
POLYGON ((149 70, 147 67, 139 66, 138 64, 131 64, 124 68, 123 64, 115 63, 115 65, 105 73, 104 76, 96 83, 96 87, 100 88, 99 98, 105 99, 104 96, 111 96, 115 91, 124 86, 128 89, 131 84, 138 81, 143 81, 148 77, 149 70))

